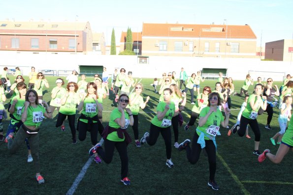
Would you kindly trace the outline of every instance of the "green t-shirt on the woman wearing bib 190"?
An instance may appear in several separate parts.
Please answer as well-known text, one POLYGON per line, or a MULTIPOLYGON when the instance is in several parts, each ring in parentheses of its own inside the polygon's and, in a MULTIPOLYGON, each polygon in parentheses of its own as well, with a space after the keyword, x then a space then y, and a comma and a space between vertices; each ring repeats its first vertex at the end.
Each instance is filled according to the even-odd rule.
MULTIPOLYGON (((93 118, 98 114, 98 106, 94 98, 86 97, 83 102, 83 109, 81 111, 83 115, 86 117, 93 118)), ((82 122, 88 123, 87 119, 79 119, 82 122)), ((93 122, 97 122, 96 120, 93 120, 93 122)))

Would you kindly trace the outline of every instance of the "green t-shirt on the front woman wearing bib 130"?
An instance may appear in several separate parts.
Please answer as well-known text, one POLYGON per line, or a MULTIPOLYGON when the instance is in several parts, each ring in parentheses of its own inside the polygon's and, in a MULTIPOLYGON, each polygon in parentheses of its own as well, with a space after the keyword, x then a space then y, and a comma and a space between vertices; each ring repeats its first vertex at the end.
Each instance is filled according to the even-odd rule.
MULTIPOLYGON (((204 117, 208 112, 210 111, 210 107, 203 108, 199 113, 199 118, 204 117)), ((222 112, 217 109, 216 112, 212 112, 211 115, 209 115, 208 119, 206 120, 205 124, 201 127, 197 126, 197 130, 204 133, 204 139, 209 140, 209 138, 206 136, 208 135, 206 133, 206 129, 211 125, 220 126, 221 122, 224 121, 224 116, 222 112)), ((200 132, 196 132, 197 135, 200 135, 200 132)))

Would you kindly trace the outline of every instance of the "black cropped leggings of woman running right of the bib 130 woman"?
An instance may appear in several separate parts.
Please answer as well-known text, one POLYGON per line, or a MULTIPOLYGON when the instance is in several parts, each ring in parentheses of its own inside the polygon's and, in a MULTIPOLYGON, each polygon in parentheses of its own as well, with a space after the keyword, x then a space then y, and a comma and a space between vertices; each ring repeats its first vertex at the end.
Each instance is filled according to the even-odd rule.
POLYGON ((250 125, 254 135, 255 141, 260 141, 260 127, 257 119, 249 119, 241 116, 240 118, 240 128, 238 130, 238 135, 240 137, 245 135, 247 125, 250 125))

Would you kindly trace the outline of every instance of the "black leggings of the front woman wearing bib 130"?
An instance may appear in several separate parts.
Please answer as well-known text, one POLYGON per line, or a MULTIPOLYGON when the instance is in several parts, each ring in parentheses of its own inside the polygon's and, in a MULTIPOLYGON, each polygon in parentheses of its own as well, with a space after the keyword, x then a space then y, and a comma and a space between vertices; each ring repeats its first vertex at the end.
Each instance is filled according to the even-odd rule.
MULTIPOLYGON (((197 135, 197 133, 195 132, 194 138, 192 140, 192 148, 190 148, 190 146, 186 146, 186 156, 188 161, 191 164, 195 164, 197 163, 198 159, 199 159, 199 155, 201 152, 201 147, 200 144, 197 143, 197 139, 199 138, 199 136, 197 135)), ((217 164, 216 164, 216 147, 215 144, 212 140, 204 140, 205 141, 205 151, 207 153, 207 157, 208 157, 208 162, 209 162, 209 169, 210 169, 210 180, 214 180, 215 179, 215 173, 216 173, 216 169, 217 169, 217 164)))

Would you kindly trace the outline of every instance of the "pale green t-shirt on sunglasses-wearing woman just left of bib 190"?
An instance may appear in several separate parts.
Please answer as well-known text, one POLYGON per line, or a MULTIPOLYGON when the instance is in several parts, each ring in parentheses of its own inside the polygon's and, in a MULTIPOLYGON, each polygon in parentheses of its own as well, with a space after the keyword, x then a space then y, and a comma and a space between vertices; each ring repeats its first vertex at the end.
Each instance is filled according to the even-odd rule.
POLYGON ((69 93, 70 95, 67 97, 65 105, 61 105, 59 112, 72 115, 76 113, 76 105, 79 102, 79 96, 77 93, 69 93))

